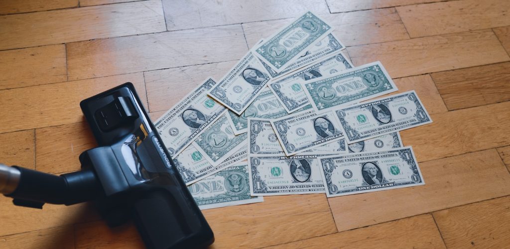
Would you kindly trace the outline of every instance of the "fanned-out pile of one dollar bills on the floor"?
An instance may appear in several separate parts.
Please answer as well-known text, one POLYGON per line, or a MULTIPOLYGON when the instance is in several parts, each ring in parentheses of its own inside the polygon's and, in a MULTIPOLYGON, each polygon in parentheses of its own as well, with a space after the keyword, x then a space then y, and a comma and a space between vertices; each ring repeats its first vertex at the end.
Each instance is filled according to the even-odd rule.
POLYGON ((305 12, 156 122, 201 209, 425 184, 399 134, 432 122, 420 98, 381 97, 398 90, 384 66, 354 66, 333 30, 305 12))

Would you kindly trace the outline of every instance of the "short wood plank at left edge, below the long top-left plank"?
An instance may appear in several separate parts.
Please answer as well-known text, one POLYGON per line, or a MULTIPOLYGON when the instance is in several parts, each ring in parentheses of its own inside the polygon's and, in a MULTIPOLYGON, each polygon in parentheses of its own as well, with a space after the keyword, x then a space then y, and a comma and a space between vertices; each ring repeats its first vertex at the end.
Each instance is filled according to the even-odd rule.
POLYGON ((0 52, 0 90, 67 80, 65 45, 0 52))

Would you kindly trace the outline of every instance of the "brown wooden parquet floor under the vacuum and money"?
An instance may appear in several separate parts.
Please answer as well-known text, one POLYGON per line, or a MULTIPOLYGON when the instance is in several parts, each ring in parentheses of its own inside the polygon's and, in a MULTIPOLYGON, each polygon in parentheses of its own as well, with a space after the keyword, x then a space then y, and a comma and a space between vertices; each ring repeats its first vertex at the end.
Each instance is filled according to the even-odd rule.
MULTIPOLYGON (((206 210, 216 248, 509 248, 510 1, 2 0, 0 162, 60 174, 96 146, 79 107, 130 81, 153 120, 304 10, 354 65, 381 61, 433 123, 401 132, 426 185, 206 210)), ((93 207, 15 207, 0 248, 140 248, 93 207)))

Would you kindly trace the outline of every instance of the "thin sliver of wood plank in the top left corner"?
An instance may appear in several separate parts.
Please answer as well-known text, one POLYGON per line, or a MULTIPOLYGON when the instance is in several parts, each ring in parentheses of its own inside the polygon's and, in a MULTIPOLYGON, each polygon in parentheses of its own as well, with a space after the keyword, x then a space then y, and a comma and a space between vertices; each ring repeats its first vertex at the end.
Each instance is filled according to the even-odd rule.
POLYGON ((0 14, 16 14, 78 7, 78 0, 3 0, 0 14))

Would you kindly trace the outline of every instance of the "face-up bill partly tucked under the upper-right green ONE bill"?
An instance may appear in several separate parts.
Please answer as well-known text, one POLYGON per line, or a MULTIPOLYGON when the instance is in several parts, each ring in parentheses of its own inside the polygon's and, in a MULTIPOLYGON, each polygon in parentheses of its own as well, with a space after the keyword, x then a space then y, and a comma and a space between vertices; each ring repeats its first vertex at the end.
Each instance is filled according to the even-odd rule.
POLYGON ((299 69, 289 74, 289 76, 274 80, 268 86, 285 110, 291 113, 310 104, 301 83, 321 77, 329 77, 352 67, 345 56, 338 52, 332 57, 299 69))

